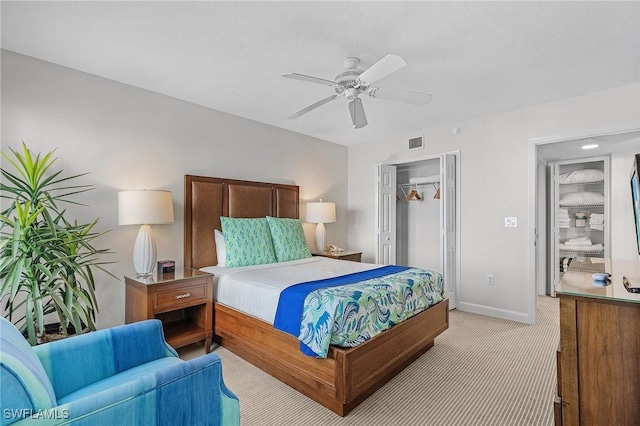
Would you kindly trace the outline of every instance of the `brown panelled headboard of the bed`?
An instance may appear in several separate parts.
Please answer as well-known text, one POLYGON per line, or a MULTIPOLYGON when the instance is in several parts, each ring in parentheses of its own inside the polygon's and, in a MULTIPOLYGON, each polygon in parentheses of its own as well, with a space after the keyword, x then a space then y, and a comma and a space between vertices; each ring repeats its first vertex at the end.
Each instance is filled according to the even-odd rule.
POLYGON ((220 216, 299 216, 299 187, 205 176, 184 176, 184 266, 216 265, 213 231, 220 216))

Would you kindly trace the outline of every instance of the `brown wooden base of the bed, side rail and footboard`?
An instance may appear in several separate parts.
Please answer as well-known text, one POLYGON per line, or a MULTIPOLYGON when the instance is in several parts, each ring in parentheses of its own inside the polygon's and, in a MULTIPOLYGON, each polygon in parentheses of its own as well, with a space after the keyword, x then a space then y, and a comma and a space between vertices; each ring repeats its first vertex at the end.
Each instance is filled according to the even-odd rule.
POLYGON ((340 416, 420 357, 449 327, 445 299, 355 348, 332 346, 326 359, 316 359, 271 324, 214 305, 214 330, 222 346, 340 416))

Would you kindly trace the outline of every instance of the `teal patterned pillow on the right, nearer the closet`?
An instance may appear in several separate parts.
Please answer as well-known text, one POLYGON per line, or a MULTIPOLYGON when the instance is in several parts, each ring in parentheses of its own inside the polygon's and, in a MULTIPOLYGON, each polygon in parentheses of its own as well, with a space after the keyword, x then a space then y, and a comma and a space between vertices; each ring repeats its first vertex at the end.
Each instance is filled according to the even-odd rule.
POLYGON ((278 262, 311 257, 307 240, 304 238, 302 224, 298 219, 279 219, 267 216, 267 223, 271 229, 271 239, 278 262))

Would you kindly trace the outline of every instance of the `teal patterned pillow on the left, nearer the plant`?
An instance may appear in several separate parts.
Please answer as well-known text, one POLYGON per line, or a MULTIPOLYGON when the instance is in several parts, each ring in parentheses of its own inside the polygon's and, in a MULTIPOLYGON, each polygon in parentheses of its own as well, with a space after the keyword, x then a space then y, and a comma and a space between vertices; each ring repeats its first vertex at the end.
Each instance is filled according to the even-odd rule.
POLYGON ((227 246, 227 268, 277 262, 267 219, 223 216, 220 221, 227 246))

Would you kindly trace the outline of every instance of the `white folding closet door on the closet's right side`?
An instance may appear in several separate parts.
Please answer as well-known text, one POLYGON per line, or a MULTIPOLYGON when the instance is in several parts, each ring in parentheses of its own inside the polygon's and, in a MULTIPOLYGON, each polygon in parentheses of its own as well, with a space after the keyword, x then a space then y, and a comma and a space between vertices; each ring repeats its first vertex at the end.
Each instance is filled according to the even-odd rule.
POLYGON ((449 309, 456 307, 456 156, 444 154, 440 173, 440 236, 445 293, 449 309))

